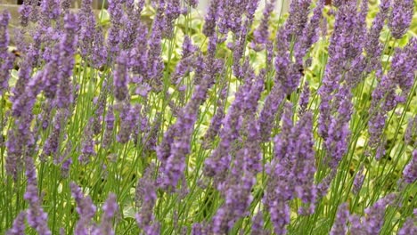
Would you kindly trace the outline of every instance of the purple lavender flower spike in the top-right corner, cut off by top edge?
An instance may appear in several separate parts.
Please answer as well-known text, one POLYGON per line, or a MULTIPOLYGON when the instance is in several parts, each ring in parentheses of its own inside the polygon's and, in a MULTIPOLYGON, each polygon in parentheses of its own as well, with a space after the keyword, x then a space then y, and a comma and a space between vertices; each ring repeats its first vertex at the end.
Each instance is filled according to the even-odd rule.
POLYGON ((394 38, 405 35, 413 20, 414 1, 395 0, 388 18, 388 28, 394 38))

